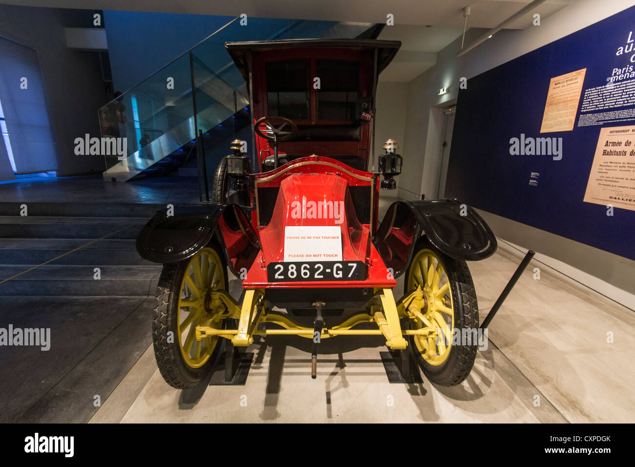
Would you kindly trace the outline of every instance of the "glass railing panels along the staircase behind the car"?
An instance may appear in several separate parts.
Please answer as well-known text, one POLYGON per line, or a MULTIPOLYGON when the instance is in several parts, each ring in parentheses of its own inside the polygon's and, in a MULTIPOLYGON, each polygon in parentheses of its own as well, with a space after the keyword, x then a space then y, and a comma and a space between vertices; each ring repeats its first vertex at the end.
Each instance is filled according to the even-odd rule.
POLYGON ((234 18, 189 51, 98 111, 102 136, 126 138, 125 158, 106 155, 105 179, 130 180, 204 135, 199 157, 201 200, 233 139, 251 145, 246 83, 226 42, 320 37, 337 22, 234 18), (249 128, 246 128, 248 126, 249 128))

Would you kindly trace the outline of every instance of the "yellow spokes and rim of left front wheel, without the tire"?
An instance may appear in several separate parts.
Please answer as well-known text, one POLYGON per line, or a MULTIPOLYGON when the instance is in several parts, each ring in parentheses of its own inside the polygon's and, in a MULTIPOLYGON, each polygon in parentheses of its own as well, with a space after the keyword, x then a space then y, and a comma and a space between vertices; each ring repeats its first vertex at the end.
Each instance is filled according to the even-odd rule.
POLYGON ((211 319, 210 292, 215 285, 225 288, 223 264, 213 248, 206 247, 187 264, 181 281, 178 299, 178 342, 185 363, 192 368, 202 367, 216 348, 218 337, 196 340, 196 327, 206 325, 220 329, 222 318, 211 319))

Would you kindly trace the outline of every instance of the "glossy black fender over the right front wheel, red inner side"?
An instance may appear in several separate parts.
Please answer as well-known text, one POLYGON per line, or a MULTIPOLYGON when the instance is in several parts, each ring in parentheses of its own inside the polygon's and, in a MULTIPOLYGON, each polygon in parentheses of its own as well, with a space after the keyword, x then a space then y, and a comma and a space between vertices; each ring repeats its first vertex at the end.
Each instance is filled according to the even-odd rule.
POLYGON ((498 247, 485 220, 460 201, 397 201, 389 206, 373 239, 395 277, 406 270, 422 235, 441 252, 462 261, 485 259, 498 247))

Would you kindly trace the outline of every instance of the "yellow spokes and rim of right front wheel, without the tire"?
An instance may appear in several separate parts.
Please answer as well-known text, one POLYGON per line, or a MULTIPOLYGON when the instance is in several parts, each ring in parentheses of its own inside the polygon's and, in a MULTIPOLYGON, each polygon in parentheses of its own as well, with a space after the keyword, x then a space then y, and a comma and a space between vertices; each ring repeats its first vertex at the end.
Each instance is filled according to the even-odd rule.
POLYGON ((420 288, 424 293, 425 306, 421 317, 411 320, 412 329, 431 327, 435 335, 413 336, 418 353, 429 365, 438 367, 450 355, 454 307, 448 274, 435 252, 422 248, 413 257, 408 274, 408 291, 420 288))

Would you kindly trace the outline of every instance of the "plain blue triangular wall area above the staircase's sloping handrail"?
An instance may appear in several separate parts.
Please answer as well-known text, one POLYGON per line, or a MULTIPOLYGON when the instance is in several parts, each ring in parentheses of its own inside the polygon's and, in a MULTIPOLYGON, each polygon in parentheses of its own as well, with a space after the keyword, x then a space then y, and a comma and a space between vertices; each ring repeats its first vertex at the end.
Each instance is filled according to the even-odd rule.
POLYGON ((114 90, 137 85, 232 19, 104 10, 114 90))

